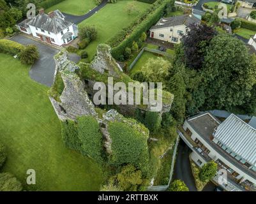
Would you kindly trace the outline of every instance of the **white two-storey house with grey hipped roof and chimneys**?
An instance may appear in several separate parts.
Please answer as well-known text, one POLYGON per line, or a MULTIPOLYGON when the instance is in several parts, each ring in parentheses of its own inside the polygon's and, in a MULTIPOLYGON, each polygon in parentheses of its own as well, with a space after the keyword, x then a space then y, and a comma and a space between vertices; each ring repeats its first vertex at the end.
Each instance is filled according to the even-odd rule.
POLYGON ((70 43, 78 35, 77 25, 65 20, 59 10, 46 14, 41 9, 36 17, 27 18, 17 27, 23 33, 31 34, 34 38, 57 46, 70 43))

